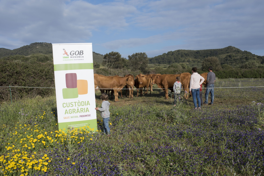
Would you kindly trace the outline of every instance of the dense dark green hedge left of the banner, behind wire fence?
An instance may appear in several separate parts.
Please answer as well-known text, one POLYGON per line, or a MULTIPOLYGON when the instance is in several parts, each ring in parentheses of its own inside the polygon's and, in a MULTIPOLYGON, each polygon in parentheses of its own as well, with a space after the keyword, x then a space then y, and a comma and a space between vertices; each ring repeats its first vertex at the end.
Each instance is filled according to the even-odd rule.
MULTIPOLYGON (((0 60, 0 101, 10 101, 9 87, 55 87, 53 63, 33 63, 0 60)), ((54 89, 11 87, 12 99, 49 96, 54 89)))

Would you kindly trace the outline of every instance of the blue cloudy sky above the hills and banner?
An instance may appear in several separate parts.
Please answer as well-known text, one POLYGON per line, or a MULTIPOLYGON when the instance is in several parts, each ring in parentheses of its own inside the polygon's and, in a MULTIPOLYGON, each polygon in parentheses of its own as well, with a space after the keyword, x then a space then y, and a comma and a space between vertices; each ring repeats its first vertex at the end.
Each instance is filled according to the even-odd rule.
POLYGON ((234 46, 264 55, 263 0, 0 0, 0 47, 92 43, 154 57, 234 46))

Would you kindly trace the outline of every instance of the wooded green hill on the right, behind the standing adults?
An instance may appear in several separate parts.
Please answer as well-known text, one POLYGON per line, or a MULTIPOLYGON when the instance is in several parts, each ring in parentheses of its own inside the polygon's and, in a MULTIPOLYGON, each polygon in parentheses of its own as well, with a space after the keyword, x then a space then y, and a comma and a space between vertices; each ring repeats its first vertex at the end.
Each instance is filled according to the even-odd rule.
POLYGON ((263 64, 264 56, 258 56, 248 51, 242 51, 236 47, 228 46, 222 49, 208 50, 175 50, 159 56, 149 58, 150 64, 186 63, 188 66, 201 67, 204 58, 216 56, 221 65, 228 64, 233 67, 241 67, 243 64, 263 64))

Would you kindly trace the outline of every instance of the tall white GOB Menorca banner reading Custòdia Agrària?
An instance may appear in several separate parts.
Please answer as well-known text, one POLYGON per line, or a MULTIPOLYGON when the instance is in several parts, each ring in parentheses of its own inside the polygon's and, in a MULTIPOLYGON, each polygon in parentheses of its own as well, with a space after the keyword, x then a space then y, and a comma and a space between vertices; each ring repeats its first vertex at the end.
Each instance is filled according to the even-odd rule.
POLYGON ((97 130, 91 43, 52 44, 59 129, 97 130))

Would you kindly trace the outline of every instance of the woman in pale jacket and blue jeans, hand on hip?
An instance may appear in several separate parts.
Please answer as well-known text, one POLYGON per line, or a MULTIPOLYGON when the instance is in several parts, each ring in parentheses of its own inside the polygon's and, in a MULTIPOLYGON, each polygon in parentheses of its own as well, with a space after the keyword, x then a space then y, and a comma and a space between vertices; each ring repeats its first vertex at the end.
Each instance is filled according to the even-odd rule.
POLYGON ((200 85, 204 82, 204 78, 197 73, 197 68, 192 68, 192 75, 190 80, 190 92, 192 93, 192 99, 194 101, 194 107, 197 109, 197 102, 198 108, 201 108, 201 100, 199 96, 200 92, 200 85), (200 81, 201 80, 201 81, 200 81), (197 98, 197 102, 196 102, 197 98))

